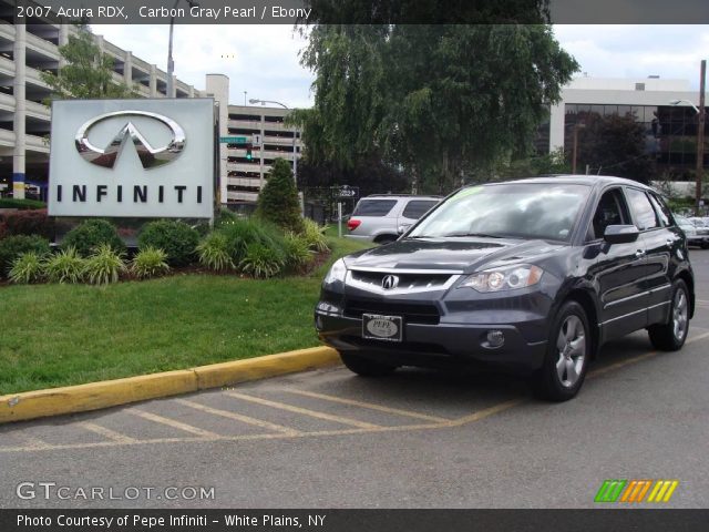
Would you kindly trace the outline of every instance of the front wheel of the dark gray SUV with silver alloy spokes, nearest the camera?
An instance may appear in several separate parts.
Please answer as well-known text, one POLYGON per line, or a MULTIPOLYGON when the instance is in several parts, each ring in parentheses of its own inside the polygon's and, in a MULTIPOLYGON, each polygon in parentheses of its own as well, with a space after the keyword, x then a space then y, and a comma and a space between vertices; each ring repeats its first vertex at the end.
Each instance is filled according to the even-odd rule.
POLYGON ((566 301, 554 318, 544 365, 534 375, 536 396, 555 402, 576 397, 586 378, 592 349, 584 307, 566 301))

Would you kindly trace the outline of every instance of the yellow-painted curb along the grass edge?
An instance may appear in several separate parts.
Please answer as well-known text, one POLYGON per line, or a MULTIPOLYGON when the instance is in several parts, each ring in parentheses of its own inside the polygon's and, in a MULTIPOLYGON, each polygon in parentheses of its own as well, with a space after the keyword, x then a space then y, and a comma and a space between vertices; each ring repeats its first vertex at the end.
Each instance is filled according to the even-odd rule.
POLYGON ((85 412, 336 366, 335 349, 314 347, 177 371, 0 396, 0 424, 85 412))

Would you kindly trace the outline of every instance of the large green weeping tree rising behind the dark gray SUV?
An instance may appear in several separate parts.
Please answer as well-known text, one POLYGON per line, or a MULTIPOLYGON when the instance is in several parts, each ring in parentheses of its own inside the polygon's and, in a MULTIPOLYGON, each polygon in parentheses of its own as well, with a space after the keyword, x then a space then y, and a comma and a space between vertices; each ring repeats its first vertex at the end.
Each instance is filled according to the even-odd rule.
POLYGON ((414 184, 433 176, 448 188, 461 172, 527 155, 578 64, 543 23, 545 2, 517 3, 527 7, 517 19, 479 20, 524 24, 316 23, 302 53, 316 73, 315 106, 294 115, 306 156, 343 166, 379 156, 414 184))

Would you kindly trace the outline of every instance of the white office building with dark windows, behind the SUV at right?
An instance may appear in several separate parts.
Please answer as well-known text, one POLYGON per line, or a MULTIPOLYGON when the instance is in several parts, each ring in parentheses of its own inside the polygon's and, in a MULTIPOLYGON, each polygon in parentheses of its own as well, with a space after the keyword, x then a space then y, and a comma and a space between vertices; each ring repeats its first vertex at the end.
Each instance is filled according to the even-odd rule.
MULTIPOLYGON (((588 113, 631 115, 645 126, 646 150, 655 155, 658 171, 690 182, 697 164, 698 120, 695 109, 681 100, 699 105, 698 91, 692 91, 686 80, 662 80, 655 75, 575 79, 563 89, 562 101, 552 106, 551 120, 540 131, 537 149, 549 153, 564 149, 571 153, 574 127, 588 113), (670 104, 677 100, 679 104, 670 104)), ((705 147, 705 168, 708 165, 709 146, 705 147)), ((577 172, 584 173, 585 168, 577 172)), ((692 183, 688 186, 693 191, 692 183)))

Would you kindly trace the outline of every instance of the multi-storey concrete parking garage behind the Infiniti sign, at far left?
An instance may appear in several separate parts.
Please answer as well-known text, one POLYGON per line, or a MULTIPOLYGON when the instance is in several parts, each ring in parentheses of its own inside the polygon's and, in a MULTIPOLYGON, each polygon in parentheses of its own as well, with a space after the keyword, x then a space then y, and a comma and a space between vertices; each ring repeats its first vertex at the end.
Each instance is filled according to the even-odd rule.
MULTIPOLYGON (((59 47, 66 43, 74 27, 49 19, 16 24, 16 2, 0 0, 0 192, 16 196, 27 191, 44 197, 49 173, 50 109, 42 104, 51 94, 40 72, 54 74, 62 64, 59 47)), ((167 73, 130 51, 95 35, 99 48, 113 58, 116 82, 133 86, 140 96, 166 98, 167 73)), ((173 76, 175 78, 175 76, 173 76)), ((177 79, 174 98, 203 96, 177 79)))

